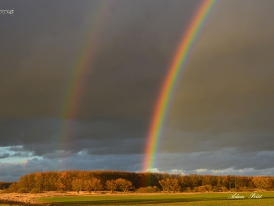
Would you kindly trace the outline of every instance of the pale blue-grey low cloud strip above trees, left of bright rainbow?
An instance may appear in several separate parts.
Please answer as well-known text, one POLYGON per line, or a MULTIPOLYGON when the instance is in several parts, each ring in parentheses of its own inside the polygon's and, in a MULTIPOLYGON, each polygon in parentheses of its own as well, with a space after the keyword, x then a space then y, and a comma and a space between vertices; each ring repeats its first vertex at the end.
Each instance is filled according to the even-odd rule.
POLYGON ((24 162, 0 163, 0 182, 17 181, 21 175, 35 171, 121 170, 139 171, 142 155, 90 155, 85 151, 67 157, 32 158, 24 162))

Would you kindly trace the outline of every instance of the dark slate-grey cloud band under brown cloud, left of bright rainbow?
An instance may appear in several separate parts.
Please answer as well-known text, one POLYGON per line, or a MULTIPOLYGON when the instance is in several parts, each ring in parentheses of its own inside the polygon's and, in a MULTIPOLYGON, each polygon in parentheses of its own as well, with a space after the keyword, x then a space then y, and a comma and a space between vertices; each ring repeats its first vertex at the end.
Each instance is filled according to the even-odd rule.
POLYGON ((146 123, 143 119, 10 120, 0 122, 0 136, 9 137, 3 138, 2 146, 21 146, 11 147, 9 150, 24 150, 40 156, 56 150, 65 150, 70 154, 83 149, 90 154, 142 153, 146 123))

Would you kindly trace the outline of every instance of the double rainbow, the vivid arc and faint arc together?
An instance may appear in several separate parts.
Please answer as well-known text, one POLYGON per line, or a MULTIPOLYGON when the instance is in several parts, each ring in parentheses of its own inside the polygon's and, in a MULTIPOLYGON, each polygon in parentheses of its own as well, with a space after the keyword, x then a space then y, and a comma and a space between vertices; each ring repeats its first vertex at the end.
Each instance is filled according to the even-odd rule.
MULTIPOLYGON (((193 20, 190 23, 186 33, 183 35, 179 44, 177 52, 173 58, 167 75, 164 79, 164 83, 160 89, 159 97, 156 102, 155 111, 152 116, 151 125, 148 133, 148 140, 145 150, 145 159, 143 170, 148 171, 153 168, 155 160, 156 150, 158 148, 160 137, 162 136, 163 122, 166 117, 167 107, 169 105, 172 93, 175 85, 178 81, 180 73, 182 72, 186 63, 190 49, 193 46, 193 42, 208 14, 211 11, 216 0, 203 0, 199 6, 193 20)), ((82 54, 77 59, 74 67, 74 73, 70 80, 70 87, 67 89, 66 96, 64 98, 64 107, 61 112, 63 119, 73 119, 78 113, 81 97, 84 93, 85 77, 92 70, 89 68, 90 63, 96 56, 96 40, 98 37, 98 27, 102 19, 106 18, 106 8, 109 1, 101 1, 96 6, 96 12, 92 15, 93 21, 90 25, 90 30, 87 35, 86 44, 83 48, 82 54)), ((68 141, 72 137, 70 126, 65 121, 61 126, 60 141, 68 141)), ((59 148, 64 149, 64 148, 59 148)))

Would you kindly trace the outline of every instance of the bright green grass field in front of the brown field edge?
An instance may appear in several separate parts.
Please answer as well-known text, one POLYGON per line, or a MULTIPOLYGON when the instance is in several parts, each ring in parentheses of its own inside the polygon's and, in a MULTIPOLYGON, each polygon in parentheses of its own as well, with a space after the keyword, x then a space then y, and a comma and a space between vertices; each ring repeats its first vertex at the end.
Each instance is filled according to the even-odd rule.
POLYGON ((117 195, 117 196, 60 196, 39 198, 50 205, 274 205, 274 192, 257 192, 261 199, 249 199, 252 192, 239 193, 244 199, 228 199, 234 193, 117 195))

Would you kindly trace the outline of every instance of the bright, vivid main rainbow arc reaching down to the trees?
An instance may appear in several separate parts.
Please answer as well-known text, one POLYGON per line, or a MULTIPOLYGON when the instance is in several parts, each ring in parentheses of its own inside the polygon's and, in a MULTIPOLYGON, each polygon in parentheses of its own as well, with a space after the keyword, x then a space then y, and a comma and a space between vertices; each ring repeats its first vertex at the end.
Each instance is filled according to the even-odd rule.
POLYGON ((172 97, 173 90, 177 80, 186 63, 189 51, 191 50, 194 40, 202 27, 204 20, 207 18, 216 0, 204 0, 194 15, 187 31, 184 33, 179 47, 175 53, 172 64, 170 65, 160 89, 159 97, 156 102, 155 110, 152 116, 151 125, 147 137, 145 150, 145 159, 143 170, 150 171, 153 169, 156 150, 162 133, 163 122, 166 117, 167 108, 172 97))

